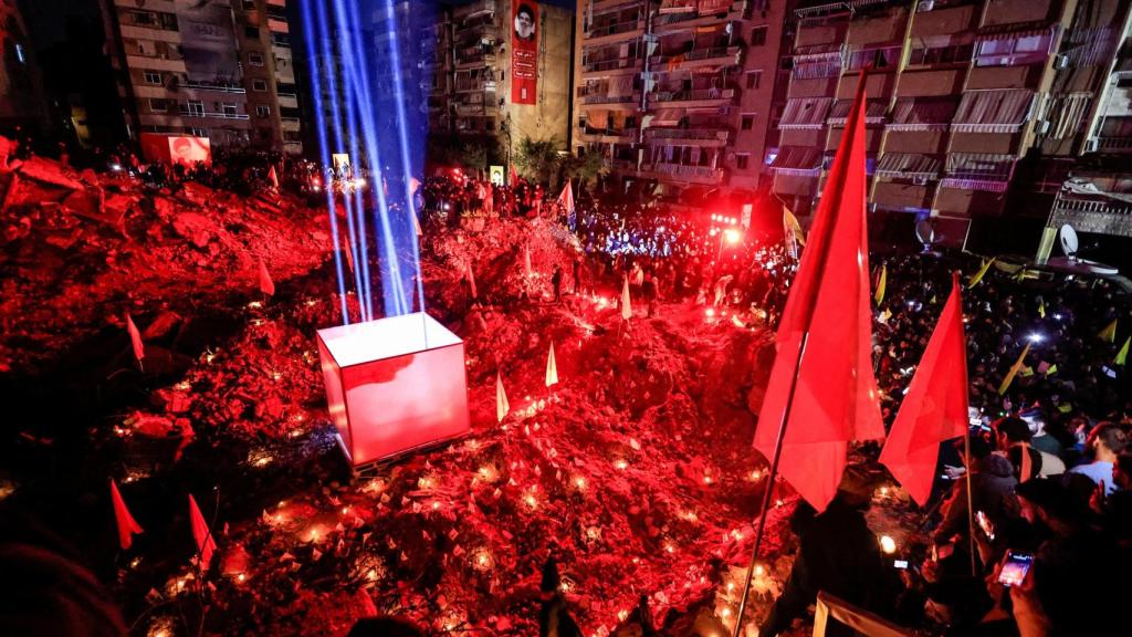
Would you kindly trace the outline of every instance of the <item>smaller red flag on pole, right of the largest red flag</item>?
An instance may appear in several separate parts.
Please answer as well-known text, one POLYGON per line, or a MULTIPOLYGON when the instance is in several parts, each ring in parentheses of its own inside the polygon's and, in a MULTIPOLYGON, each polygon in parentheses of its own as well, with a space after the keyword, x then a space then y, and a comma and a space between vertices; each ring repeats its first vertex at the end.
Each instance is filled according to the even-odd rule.
POLYGON ((935 478, 940 443, 967 431, 967 339, 959 274, 881 451, 881 462, 920 506, 935 478))

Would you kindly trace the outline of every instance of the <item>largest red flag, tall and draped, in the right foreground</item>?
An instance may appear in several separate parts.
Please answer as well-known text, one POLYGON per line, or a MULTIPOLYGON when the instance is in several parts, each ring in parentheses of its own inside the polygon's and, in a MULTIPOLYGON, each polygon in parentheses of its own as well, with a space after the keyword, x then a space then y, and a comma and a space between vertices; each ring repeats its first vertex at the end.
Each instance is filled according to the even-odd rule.
POLYGON ((872 364, 864 111, 863 75, 782 314, 755 432, 767 458, 784 432, 779 470, 818 511, 837 494, 849 441, 884 438, 872 364))

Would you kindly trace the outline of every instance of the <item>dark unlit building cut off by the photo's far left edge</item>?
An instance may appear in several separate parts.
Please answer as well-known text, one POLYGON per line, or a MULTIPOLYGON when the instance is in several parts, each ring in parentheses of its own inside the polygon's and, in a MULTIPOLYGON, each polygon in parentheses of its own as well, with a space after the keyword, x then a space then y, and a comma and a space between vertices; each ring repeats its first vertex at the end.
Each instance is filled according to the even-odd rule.
POLYGON ((16 0, 0 0, 0 129, 46 128, 43 78, 16 0))

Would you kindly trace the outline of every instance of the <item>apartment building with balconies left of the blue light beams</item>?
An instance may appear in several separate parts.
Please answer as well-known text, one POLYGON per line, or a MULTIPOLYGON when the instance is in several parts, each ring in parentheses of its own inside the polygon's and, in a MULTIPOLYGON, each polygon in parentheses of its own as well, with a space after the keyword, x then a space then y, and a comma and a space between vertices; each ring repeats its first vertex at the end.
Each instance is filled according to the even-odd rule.
POLYGON ((131 138, 301 152, 285 0, 102 0, 131 138))

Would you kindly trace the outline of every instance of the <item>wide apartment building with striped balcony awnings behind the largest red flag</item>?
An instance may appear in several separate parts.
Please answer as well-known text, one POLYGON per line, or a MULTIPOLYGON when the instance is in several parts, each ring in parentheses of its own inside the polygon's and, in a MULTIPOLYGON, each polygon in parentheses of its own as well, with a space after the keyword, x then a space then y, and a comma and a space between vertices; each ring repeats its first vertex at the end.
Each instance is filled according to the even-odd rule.
POLYGON ((932 216, 961 243, 971 220, 1010 211, 1023 158, 1095 147, 1089 113, 1126 12, 1123 0, 799 6, 781 141, 766 156, 775 195, 799 213, 813 207, 869 67, 875 216, 932 216))

